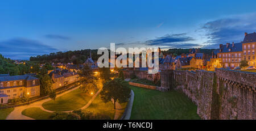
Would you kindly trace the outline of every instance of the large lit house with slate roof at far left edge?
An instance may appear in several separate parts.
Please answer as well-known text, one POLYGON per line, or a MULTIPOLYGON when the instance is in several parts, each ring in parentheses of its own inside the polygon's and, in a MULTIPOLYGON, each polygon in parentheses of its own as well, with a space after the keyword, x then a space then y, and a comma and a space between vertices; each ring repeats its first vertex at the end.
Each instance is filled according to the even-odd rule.
POLYGON ((31 75, 0 75, 0 104, 9 99, 21 98, 24 94, 32 98, 40 95, 40 81, 31 75))

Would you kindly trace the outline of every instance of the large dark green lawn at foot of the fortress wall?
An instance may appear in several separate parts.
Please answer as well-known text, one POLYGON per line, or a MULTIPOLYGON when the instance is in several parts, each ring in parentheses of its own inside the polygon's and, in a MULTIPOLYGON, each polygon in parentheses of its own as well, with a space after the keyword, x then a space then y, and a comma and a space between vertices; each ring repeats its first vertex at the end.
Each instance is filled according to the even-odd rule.
POLYGON ((134 91, 131 120, 200 119, 196 105, 180 92, 130 87, 134 91))

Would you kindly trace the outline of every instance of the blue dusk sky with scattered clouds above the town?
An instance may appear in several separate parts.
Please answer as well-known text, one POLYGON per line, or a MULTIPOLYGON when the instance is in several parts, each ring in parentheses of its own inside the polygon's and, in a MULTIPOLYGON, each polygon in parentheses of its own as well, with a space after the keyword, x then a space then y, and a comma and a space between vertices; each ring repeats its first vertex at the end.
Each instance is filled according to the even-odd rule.
POLYGON ((14 60, 116 47, 217 49, 256 31, 256 1, 0 2, 0 54, 14 60))

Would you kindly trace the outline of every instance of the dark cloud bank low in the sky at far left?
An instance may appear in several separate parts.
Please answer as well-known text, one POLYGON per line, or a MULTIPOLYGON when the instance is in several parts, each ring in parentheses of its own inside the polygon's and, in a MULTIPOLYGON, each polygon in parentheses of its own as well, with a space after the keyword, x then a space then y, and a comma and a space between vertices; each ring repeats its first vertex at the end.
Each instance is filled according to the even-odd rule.
POLYGON ((40 41, 15 38, 0 41, 0 53, 12 59, 28 59, 30 56, 56 52, 57 49, 40 43, 40 41))

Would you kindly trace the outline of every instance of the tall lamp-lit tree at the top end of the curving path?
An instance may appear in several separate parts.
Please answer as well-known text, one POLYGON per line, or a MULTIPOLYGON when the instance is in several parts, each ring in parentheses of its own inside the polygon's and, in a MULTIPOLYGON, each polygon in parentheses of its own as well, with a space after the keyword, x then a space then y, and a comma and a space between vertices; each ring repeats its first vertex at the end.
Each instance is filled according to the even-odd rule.
POLYGON ((93 70, 90 68, 88 64, 85 64, 85 66, 78 72, 78 74, 80 89, 82 91, 86 93, 97 91, 97 78, 94 76, 93 70))

